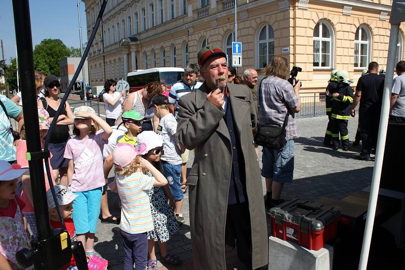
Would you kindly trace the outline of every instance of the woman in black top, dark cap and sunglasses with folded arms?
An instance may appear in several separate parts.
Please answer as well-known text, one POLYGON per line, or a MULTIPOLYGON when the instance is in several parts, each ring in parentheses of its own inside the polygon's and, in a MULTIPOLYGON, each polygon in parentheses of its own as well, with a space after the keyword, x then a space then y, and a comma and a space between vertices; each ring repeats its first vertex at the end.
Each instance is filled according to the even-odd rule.
MULTIPOLYGON (((59 108, 61 99, 58 97, 60 82, 55 75, 45 77, 45 98, 38 100, 38 106, 45 108, 49 113, 50 123, 59 108)), ((64 108, 58 117, 58 121, 52 130, 51 139, 49 141, 49 151, 52 154, 51 166, 53 169, 53 177, 55 179, 60 175, 60 184, 67 186, 67 167, 68 160, 63 157, 65 152, 66 142, 70 137, 69 125, 73 124, 72 110, 69 103, 66 101, 64 108)))

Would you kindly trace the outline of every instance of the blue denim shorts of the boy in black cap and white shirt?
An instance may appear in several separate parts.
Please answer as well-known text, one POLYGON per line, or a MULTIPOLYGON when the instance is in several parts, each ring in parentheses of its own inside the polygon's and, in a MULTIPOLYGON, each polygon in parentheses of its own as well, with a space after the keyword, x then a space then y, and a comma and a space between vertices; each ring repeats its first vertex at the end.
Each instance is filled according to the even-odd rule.
POLYGON ((168 179, 168 184, 173 195, 173 200, 175 202, 183 200, 184 194, 181 190, 180 184, 181 164, 174 165, 161 160, 161 173, 163 173, 166 179, 168 179))

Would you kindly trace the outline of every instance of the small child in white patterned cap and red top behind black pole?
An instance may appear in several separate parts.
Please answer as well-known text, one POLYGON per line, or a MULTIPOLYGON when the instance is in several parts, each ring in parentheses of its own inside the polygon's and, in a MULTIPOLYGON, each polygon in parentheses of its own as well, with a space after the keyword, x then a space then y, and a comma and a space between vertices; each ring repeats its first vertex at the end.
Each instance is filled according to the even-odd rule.
MULTIPOLYGON (((72 212, 73 212, 73 200, 77 197, 74 195, 70 190, 68 190, 63 185, 56 185, 54 186, 56 199, 58 200, 59 209, 62 213, 63 220, 65 221, 66 230, 69 233, 71 241, 76 241, 76 233, 74 231, 74 224, 72 219, 72 212)), ((53 229, 62 229, 62 223, 60 222, 58 212, 56 210, 55 201, 52 197, 52 191, 47 191, 47 199, 48 199, 48 209, 49 209, 49 219, 51 223, 51 227, 53 229)), ((76 270, 76 261, 74 260, 74 256, 70 259, 70 263, 66 266, 60 268, 61 270, 69 269, 69 270, 76 270)))

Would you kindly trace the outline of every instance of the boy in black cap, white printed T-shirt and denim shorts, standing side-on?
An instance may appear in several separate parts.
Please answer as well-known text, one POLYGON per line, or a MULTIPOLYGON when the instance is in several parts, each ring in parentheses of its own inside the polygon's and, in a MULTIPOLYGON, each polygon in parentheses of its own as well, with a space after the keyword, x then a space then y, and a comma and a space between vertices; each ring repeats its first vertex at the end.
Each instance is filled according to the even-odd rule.
MULTIPOLYGON (((156 95, 152 100, 154 114, 160 122, 157 126, 157 134, 163 136, 163 154, 161 155, 161 170, 168 179, 169 188, 173 195, 174 210, 177 222, 184 223, 181 213, 184 194, 181 190, 181 150, 174 137, 177 129, 177 121, 169 111, 169 99, 163 95, 156 95)), ((184 150, 183 150, 184 152, 184 150)))

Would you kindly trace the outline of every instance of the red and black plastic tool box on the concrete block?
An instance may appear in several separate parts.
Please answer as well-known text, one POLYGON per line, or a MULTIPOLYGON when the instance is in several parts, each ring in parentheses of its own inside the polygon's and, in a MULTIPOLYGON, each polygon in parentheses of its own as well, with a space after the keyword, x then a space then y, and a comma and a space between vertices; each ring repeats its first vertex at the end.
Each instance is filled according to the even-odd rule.
POLYGON ((268 214, 271 234, 282 240, 318 250, 323 243, 336 238, 340 212, 333 207, 294 199, 271 208, 268 214))

